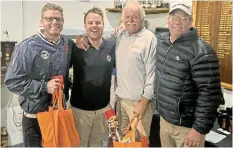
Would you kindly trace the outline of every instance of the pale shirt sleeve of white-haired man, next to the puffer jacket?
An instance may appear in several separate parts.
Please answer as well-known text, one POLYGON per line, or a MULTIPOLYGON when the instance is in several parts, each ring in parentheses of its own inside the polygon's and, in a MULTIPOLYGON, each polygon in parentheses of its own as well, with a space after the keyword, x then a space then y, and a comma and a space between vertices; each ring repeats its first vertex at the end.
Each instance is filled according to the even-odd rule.
POLYGON ((144 84, 143 97, 149 100, 154 98, 156 44, 157 39, 153 36, 151 42, 148 43, 149 46, 147 47, 143 58, 146 69, 146 81, 144 84))

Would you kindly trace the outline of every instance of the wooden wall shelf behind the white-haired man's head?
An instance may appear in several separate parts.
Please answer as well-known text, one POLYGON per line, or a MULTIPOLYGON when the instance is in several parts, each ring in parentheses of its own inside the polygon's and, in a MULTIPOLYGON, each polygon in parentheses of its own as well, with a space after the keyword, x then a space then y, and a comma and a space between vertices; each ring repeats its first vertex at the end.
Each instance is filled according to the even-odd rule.
MULTIPOLYGON (((121 13, 121 8, 106 8, 105 10, 113 13, 121 13)), ((168 13, 169 8, 145 8, 146 14, 168 13)))

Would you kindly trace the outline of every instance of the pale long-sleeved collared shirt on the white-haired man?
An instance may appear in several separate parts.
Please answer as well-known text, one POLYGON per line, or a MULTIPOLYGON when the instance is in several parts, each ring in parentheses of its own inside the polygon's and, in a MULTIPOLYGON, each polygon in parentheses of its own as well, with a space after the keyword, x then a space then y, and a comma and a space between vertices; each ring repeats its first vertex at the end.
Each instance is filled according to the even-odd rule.
POLYGON ((116 44, 116 94, 124 99, 138 101, 154 97, 155 53, 157 39, 143 28, 131 36, 122 32, 116 44))

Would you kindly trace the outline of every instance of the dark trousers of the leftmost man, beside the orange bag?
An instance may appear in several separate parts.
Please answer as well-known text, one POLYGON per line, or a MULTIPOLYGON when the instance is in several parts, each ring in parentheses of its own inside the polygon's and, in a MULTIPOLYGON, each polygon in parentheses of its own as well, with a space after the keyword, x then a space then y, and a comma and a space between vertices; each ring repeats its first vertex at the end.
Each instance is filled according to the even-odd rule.
POLYGON ((22 125, 24 147, 41 147, 41 132, 38 120, 23 116, 22 125))

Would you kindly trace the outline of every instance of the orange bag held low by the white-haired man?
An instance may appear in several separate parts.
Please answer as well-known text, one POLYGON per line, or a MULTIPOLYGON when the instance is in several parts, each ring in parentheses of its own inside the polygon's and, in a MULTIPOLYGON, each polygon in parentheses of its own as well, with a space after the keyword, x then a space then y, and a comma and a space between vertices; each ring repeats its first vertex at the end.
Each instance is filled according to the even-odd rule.
POLYGON ((133 117, 125 131, 125 136, 121 141, 113 141, 113 147, 149 147, 148 137, 144 136, 140 132, 140 140, 136 141, 135 136, 137 124, 137 117, 133 117))

